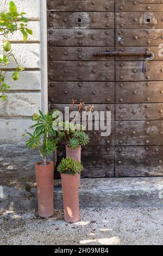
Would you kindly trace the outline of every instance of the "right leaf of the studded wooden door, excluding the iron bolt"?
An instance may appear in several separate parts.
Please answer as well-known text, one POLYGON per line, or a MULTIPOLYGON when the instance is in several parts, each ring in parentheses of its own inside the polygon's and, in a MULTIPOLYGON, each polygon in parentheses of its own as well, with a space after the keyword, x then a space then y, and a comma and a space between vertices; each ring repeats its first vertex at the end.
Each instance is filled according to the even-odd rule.
POLYGON ((163 1, 115 1, 115 21, 117 51, 155 56, 146 74, 145 57, 116 57, 115 175, 162 175, 163 1))

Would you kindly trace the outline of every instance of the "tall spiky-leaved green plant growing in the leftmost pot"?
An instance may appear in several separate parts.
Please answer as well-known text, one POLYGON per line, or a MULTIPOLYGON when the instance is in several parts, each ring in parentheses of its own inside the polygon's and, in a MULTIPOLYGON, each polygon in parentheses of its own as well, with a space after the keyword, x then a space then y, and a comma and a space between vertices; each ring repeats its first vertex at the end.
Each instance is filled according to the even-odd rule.
POLYGON ((34 114, 32 120, 35 124, 31 126, 31 129, 35 129, 34 132, 26 132, 22 135, 28 138, 27 147, 39 150, 44 165, 47 164, 47 156, 51 156, 57 149, 57 144, 61 139, 61 135, 58 136, 60 131, 54 130, 52 126, 54 119, 58 118, 56 112, 57 110, 54 110, 53 114, 43 114, 39 111, 39 114, 34 114))

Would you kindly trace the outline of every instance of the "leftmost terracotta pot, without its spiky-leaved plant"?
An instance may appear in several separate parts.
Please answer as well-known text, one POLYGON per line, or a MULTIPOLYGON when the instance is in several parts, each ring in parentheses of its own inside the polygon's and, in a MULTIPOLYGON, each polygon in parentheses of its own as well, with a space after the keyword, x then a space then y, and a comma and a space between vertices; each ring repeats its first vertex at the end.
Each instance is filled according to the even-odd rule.
POLYGON ((35 163, 39 216, 50 217, 54 214, 54 163, 47 162, 46 166, 40 163, 35 163))

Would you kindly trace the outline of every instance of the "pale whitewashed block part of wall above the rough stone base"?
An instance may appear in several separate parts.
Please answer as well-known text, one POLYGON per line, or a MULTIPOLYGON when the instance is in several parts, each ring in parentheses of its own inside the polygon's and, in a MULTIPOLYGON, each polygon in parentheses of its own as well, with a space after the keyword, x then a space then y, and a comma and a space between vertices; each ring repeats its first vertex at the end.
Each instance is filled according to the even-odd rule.
MULTIPOLYGON (((1 11, 6 11, 10 0, 1 1, 1 11)), ((22 133, 31 124, 31 117, 38 109, 46 111, 47 77, 46 77, 46 1, 14 0, 18 11, 25 11, 33 36, 29 35, 26 43, 20 33, 9 36, 12 49, 20 66, 26 70, 20 74, 20 80, 12 81, 11 73, 15 68, 11 60, 8 82, 11 86, 7 93, 8 100, 0 101, 0 144, 23 144, 22 133), (40 8, 41 7, 41 8, 40 8), (40 43, 41 42, 41 43, 40 43)), ((3 38, 0 37, 0 41, 3 38)), ((2 43, 0 45, 2 48, 2 43)))

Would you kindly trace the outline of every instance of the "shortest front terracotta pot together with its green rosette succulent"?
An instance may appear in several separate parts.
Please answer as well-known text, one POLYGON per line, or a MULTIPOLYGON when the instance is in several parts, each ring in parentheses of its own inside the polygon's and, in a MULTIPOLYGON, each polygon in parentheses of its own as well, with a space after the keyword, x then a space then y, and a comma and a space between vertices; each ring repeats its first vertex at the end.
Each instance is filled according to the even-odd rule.
POLYGON ((58 166, 58 172, 61 173, 66 222, 73 223, 79 221, 78 176, 82 170, 82 163, 75 161, 71 157, 62 159, 58 166))

